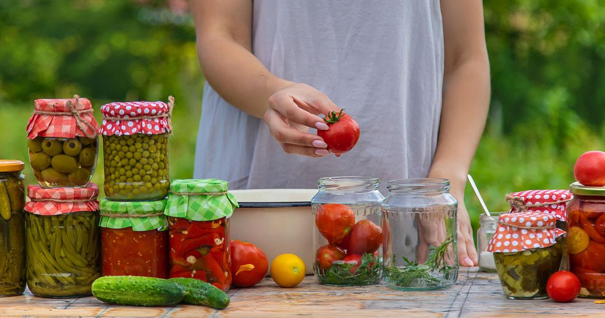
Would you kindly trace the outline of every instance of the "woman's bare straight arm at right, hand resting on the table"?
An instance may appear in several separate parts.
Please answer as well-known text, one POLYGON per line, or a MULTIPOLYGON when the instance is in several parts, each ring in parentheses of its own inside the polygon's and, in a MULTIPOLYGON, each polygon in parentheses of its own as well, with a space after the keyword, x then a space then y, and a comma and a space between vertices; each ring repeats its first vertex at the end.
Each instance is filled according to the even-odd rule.
POLYGON ((481 0, 442 1, 445 71, 437 151, 429 176, 451 180, 458 199, 458 254, 477 265, 473 229, 464 205, 466 174, 489 109, 489 61, 481 0))

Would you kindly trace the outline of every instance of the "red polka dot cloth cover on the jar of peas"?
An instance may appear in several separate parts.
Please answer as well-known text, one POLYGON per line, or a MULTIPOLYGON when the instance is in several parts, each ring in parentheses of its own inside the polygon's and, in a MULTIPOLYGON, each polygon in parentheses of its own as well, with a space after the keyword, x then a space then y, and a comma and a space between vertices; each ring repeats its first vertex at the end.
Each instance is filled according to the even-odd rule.
POLYGON ((104 119, 100 134, 123 136, 129 134, 170 133, 170 107, 165 102, 113 102, 101 106, 104 119), (142 117, 149 117, 143 119, 142 117), (134 119, 130 119, 134 118, 134 119))

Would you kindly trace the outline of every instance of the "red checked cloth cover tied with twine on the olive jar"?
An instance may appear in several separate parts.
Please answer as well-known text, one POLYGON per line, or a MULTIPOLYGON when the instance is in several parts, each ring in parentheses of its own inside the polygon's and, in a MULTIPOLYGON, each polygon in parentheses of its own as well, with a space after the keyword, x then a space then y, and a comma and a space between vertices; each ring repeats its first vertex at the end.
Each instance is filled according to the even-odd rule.
POLYGON ((35 137, 57 137, 74 138, 90 137, 96 138, 99 134, 99 124, 93 116, 93 107, 87 98, 78 98, 75 107, 77 111, 89 111, 79 113, 82 120, 80 125, 77 119, 70 113, 67 102, 76 105, 76 99, 36 99, 34 101, 34 113, 27 124, 27 138, 35 137), (38 114, 36 111, 65 114, 38 114))

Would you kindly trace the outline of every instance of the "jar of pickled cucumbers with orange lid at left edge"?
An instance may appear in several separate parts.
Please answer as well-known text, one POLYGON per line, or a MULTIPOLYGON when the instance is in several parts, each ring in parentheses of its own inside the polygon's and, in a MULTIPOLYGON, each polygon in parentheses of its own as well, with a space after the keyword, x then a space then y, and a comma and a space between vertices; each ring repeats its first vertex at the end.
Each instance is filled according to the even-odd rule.
POLYGON ((0 297, 25 290, 24 166, 0 160, 0 297))

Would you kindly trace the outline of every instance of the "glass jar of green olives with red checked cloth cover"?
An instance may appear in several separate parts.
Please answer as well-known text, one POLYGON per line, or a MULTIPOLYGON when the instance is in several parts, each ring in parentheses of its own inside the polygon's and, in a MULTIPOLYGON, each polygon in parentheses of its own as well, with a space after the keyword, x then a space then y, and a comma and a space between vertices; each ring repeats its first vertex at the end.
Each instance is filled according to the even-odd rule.
POLYGON ((27 145, 38 183, 44 188, 86 187, 97 164, 98 131, 88 99, 36 99, 27 145))

